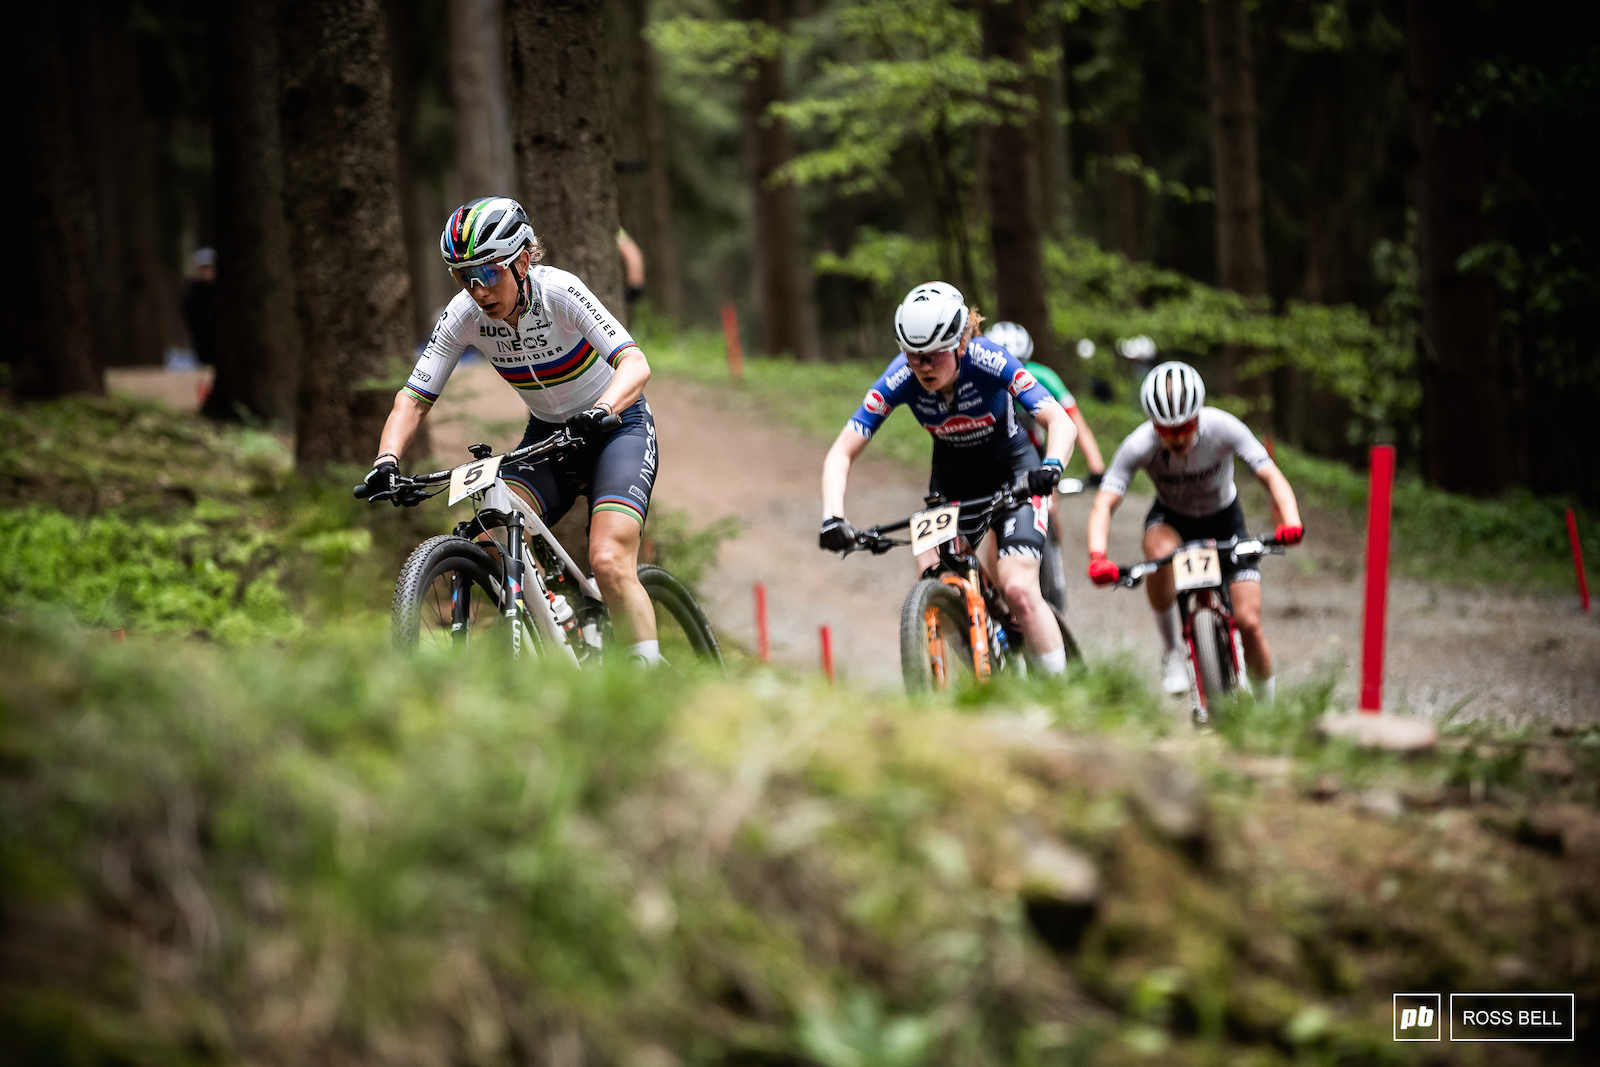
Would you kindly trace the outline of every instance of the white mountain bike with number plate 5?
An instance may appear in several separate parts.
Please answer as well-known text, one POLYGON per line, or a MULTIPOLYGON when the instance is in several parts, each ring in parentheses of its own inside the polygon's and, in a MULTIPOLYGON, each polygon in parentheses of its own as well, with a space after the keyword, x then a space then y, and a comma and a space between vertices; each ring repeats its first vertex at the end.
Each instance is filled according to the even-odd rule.
MULTIPOLYGON (((602 429, 621 424, 611 416, 602 429)), ((467 448, 474 459, 450 470, 400 478, 395 498, 414 507, 445 490, 448 506, 472 502, 472 518, 419 544, 395 579, 390 625, 395 648, 462 648, 493 641, 514 657, 531 645, 539 657, 598 664, 611 649, 611 619, 594 577, 573 561, 544 520, 510 491, 506 464, 582 448, 568 430, 494 456, 488 445, 467 448), (434 488, 438 486, 438 488, 434 488)), ((365 498, 366 486, 355 486, 365 498)), ((694 593, 664 568, 645 563, 638 581, 656 608, 662 657, 722 665, 717 633, 694 593)))

